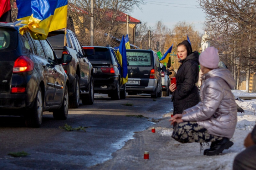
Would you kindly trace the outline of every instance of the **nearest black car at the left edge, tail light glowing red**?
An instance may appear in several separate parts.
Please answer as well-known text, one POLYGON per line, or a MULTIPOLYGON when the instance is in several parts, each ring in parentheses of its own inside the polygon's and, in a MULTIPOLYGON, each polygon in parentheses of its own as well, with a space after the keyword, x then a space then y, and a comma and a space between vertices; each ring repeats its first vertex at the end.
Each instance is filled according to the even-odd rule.
POLYGON ((24 116, 27 127, 40 127, 43 111, 68 116, 68 77, 47 40, 21 36, 13 23, 0 23, 0 114, 24 116))

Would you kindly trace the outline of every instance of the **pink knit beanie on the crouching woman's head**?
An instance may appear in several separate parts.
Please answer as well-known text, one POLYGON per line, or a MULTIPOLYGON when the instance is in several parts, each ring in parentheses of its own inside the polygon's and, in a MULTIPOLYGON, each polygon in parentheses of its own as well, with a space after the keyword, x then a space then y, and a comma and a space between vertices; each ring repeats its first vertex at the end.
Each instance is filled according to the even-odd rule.
POLYGON ((199 63, 209 69, 218 68, 220 58, 215 47, 208 47, 199 55, 199 63))

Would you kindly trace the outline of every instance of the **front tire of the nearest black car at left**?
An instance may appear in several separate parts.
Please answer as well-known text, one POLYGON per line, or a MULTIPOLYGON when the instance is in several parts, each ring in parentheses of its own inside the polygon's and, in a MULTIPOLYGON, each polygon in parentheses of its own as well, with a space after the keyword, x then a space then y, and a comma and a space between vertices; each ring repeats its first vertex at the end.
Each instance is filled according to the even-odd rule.
POLYGON ((53 110, 53 118, 56 120, 66 120, 68 115, 68 88, 65 87, 62 105, 59 109, 53 110))

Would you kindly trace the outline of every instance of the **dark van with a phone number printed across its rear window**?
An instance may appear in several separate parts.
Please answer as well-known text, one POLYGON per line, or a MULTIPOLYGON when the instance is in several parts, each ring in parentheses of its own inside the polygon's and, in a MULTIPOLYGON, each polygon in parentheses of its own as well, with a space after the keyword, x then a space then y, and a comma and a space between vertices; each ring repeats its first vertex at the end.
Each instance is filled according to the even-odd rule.
POLYGON ((152 50, 127 49, 128 95, 150 94, 152 98, 161 97, 162 77, 157 53, 152 50))

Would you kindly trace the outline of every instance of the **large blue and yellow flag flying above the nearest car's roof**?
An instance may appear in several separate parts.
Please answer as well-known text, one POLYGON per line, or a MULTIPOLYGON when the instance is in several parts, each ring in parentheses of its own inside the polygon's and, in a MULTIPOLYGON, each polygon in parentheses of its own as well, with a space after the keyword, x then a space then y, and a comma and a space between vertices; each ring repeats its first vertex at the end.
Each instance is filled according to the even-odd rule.
POLYGON ((27 30, 35 39, 46 39, 48 32, 67 27, 67 0, 16 0, 17 20, 26 24, 20 33, 27 30))

